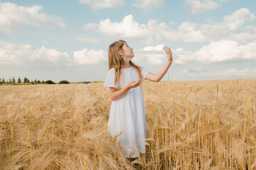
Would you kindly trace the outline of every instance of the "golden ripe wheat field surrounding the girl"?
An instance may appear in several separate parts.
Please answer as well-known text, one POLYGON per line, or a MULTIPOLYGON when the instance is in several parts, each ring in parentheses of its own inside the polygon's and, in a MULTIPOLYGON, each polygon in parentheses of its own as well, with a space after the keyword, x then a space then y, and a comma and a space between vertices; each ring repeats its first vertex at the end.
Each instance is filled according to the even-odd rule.
POLYGON ((256 169, 256 79, 144 81, 134 162, 107 132, 102 85, 0 86, 0 169, 256 169))

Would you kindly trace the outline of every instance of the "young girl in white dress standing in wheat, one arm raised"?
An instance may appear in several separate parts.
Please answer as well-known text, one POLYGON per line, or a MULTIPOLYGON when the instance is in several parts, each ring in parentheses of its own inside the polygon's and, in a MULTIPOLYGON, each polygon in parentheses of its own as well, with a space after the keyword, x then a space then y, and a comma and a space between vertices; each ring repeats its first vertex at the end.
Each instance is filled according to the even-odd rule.
POLYGON ((109 72, 105 86, 110 91, 112 100, 108 130, 112 137, 119 136, 119 142, 126 149, 122 150, 125 157, 138 157, 138 152, 145 153, 146 115, 142 96, 141 82, 160 81, 171 66, 172 52, 164 46, 167 62, 162 69, 153 74, 139 67, 131 60, 134 57, 132 47, 124 40, 110 45, 108 50, 109 72))

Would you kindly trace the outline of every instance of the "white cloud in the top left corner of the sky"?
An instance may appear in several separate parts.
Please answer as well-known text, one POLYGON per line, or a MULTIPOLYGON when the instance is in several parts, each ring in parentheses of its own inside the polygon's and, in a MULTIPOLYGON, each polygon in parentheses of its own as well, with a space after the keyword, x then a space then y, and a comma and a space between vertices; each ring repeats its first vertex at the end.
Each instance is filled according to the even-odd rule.
POLYGON ((15 33, 21 24, 28 24, 39 28, 55 27, 64 28, 58 16, 41 13, 41 6, 17 6, 10 2, 0 1, 0 30, 6 33, 15 33))

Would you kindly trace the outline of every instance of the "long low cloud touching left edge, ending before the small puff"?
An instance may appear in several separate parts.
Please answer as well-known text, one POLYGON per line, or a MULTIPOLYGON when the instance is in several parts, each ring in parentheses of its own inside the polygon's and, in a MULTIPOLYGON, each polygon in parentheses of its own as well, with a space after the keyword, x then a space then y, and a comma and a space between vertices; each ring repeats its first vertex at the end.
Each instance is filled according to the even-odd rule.
POLYGON ((46 47, 16 45, 0 41, 0 65, 40 65, 72 63, 67 52, 59 52, 46 47))

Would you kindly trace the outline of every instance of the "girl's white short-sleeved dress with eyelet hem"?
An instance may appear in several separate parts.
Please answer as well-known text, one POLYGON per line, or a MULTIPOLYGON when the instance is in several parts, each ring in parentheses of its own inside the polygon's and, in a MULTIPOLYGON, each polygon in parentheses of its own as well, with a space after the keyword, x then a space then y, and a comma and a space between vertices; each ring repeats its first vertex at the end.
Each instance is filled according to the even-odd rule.
MULTIPOLYGON (((144 80, 149 72, 143 67, 141 68, 142 80, 144 80)), ((137 72, 133 67, 122 69, 119 87, 122 89, 129 81, 138 79, 137 72)), ((108 90, 110 90, 110 87, 114 87, 114 68, 107 73, 103 86, 108 90)), ((122 131, 122 135, 119 136, 118 140, 126 148, 122 150, 125 157, 138 157, 137 149, 141 153, 146 152, 146 115, 141 86, 130 89, 122 98, 112 101, 108 130, 112 137, 122 131)))

